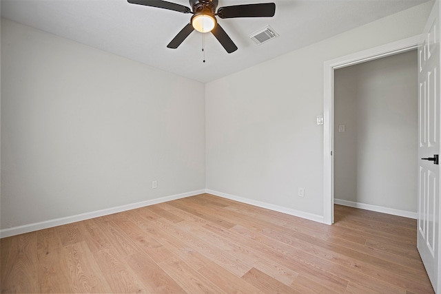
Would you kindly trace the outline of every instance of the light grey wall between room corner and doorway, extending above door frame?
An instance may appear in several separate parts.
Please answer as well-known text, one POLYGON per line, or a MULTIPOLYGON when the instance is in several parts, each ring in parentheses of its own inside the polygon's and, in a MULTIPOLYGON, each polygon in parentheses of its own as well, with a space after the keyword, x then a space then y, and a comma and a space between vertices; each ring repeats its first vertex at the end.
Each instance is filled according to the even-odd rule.
POLYGON ((420 34, 432 5, 207 83, 207 189, 323 216, 323 63, 420 34))

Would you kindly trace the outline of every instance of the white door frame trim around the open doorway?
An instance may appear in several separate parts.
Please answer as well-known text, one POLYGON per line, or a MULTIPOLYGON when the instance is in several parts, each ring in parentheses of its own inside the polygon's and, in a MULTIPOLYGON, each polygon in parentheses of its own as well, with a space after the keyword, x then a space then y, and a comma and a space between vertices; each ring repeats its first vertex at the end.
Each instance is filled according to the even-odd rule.
POLYGON ((334 156, 331 155, 334 150, 334 70, 416 49, 422 40, 424 36, 418 34, 331 59, 323 64, 323 222, 325 224, 334 223, 334 156))

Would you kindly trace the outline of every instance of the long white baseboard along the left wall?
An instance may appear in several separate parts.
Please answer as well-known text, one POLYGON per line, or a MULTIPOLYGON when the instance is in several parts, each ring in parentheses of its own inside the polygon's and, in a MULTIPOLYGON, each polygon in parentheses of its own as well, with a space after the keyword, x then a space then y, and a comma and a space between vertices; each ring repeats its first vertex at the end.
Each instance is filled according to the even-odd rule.
POLYGON ((171 200, 181 199, 189 196, 195 196, 198 194, 205 193, 205 189, 191 191, 187 193, 176 194, 172 196, 166 196, 162 198, 156 198, 152 200, 145 200, 141 202, 136 202, 132 204, 126 204, 119 207, 112 207, 110 209, 101 209, 98 211, 90 211, 86 213, 77 214, 76 216, 67 216, 65 218, 57 218, 54 220, 45 220, 43 222, 35 222, 33 224, 24 224, 19 227, 12 227, 9 229, 1 229, 0 230, 0 238, 10 237, 12 235, 19 235, 22 233, 29 233, 32 231, 38 231, 41 229, 48 229, 52 227, 61 226, 62 224, 70 224, 72 222, 79 222, 81 220, 89 220, 90 218, 98 218, 100 216, 107 216, 112 213, 118 213, 122 211, 127 211, 130 209, 137 209, 140 207, 146 207, 152 204, 158 204, 162 202, 167 202, 171 200))

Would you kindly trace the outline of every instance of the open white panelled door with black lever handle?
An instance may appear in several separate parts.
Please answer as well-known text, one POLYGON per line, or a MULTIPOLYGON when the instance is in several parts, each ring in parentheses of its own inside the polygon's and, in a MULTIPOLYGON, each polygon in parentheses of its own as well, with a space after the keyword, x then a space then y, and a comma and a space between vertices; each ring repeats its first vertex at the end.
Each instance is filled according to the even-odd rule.
POLYGON ((438 287, 440 222, 440 5, 435 1, 418 47, 418 251, 438 287))

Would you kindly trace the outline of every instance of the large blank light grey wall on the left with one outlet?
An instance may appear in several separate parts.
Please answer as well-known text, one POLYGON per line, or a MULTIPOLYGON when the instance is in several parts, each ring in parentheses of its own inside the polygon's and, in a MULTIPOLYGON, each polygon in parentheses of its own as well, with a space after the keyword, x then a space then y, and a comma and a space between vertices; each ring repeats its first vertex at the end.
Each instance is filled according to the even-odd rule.
POLYGON ((1 229, 204 189, 204 98, 203 83, 1 19, 1 229))

